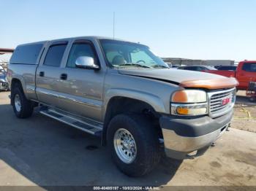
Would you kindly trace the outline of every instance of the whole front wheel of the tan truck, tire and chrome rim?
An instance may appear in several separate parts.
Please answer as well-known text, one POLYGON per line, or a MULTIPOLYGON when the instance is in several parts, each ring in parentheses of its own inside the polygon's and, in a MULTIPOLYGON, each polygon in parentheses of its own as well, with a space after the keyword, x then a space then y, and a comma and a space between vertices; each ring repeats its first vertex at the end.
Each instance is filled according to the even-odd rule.
POLYGON ((158 133, 143 115, 113 117, 107 139, 114 163, 128 176, 148 174, 159 163, 158 133))

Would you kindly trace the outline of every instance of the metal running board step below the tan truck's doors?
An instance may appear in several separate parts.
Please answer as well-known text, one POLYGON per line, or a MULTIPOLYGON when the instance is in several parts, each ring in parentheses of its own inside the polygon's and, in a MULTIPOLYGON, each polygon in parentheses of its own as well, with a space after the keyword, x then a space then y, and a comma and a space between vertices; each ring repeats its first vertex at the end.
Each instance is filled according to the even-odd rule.
POLYGON ((94 120, 89 120, 85 118, 80 118, 68 114, 67 112, 62 112, 57 109, 49 109, 48 107, 42 106, 39 113, 45 116, 51 117, 60 122, 64 122, 67 125, 71 125, 74 128, 85 131, 86 133, 91 133, 95 136, 101 136, 103 125, 102 123, 96 122, 94 120))

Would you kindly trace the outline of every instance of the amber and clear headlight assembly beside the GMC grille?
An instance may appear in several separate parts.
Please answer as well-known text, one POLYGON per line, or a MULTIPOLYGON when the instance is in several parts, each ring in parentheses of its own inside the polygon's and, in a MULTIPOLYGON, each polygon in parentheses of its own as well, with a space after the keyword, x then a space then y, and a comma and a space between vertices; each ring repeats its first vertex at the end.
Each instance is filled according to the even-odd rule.
POLYGON ((178 90, 171 96, 170 113, 174 115, 208 114, 207 95, 203 90, 178 90))

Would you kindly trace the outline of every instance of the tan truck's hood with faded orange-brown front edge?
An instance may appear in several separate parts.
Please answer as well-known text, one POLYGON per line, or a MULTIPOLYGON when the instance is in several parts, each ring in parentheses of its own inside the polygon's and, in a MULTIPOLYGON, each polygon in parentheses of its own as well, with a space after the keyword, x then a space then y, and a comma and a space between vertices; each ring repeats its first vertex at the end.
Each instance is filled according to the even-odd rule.
POLYGON ((206 89, 221 89, 236 87, 238 82, 234 78, 222 77, 200 71, 187 71, 179 69, 118 69, 119 74, 136 77, 146 77, 170 82, 182 87, 199 87, 206 89))

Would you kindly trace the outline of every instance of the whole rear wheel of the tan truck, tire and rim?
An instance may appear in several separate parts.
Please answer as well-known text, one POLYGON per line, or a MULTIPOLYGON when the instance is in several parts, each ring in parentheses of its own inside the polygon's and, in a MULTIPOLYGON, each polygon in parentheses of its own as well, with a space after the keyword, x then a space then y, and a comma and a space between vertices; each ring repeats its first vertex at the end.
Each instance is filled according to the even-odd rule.
POLYGON ((18 118, 31 117, 34 111, 34 106, 26 98, 19 85, 15 85, 12 90, 12 108, 18 118))

